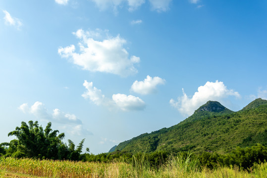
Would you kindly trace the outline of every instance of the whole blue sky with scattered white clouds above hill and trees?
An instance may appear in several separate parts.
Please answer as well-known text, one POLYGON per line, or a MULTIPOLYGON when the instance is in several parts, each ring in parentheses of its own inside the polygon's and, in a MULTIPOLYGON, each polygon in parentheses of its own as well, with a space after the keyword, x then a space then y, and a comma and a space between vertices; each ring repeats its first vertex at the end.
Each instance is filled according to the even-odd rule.
POLYGON ((107 152, 267 99, 266 68, 265 0, 0 1, 0 142, 38 120, 107 152))

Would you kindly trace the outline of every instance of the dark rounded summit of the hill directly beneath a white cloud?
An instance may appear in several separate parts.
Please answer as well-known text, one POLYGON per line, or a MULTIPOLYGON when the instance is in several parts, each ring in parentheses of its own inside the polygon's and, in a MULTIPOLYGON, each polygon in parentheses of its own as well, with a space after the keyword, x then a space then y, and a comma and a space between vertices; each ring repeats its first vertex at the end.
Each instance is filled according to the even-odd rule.
POLYGON ((218 101, 208 101, 206 104, 200 106, 195 113, 200 111, 209 111, 209 112, 222 112, 228 110, 226 107, 221 105, 218 101))

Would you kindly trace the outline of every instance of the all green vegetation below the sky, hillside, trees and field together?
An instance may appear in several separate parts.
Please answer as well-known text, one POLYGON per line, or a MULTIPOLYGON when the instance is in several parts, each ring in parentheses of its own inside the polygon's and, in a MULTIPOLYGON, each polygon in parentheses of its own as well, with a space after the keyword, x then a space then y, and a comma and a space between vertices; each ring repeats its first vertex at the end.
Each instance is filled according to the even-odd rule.
POLYGON ((82 154, 64 133, 21 123, 0 144, 5 172, 53 178, 264 178, 267 175, 267 100, 233 112, 208 101, 185 121, 141 134, 108 153, 82 154), (54 160, 54 161, 53 161, 54 160), (63 161, 64 160, 64 161, 63 161), (68 160, 68 161, 65 161, 68 160), (75 162, 76 161, 76 162, 75 162), (77 162, 79 161, 79 162, 77 162))

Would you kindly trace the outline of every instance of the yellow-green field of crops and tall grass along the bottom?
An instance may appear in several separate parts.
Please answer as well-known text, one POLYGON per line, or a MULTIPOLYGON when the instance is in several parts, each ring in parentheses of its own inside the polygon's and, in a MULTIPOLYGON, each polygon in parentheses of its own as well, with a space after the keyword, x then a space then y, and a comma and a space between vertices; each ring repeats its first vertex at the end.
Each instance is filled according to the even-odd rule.
POLYGON ((73 162, 0 158, 1 178, 267 178, 267 163, 250 170, 238 167, 209 170, 198 166, 196 159, 171 157, 155 169, 146 160, 132 163, 73 162))

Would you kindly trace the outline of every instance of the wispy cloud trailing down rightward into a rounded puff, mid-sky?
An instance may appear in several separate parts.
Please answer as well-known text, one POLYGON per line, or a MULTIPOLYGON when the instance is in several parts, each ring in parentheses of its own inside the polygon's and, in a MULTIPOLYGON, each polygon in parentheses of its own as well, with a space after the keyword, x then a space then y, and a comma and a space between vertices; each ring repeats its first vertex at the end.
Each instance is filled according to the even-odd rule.
POLYGON ((83 86, 86 91, 82 94, 84 98, 89 98, 96 105, 103 105, 109 109, 119 108, 123 111, 143 110, 145 102, 139 97, 125 94, 113 94, 112 99, 106 98, 100 89, 93 87, 92 82, 84 81, 83 86))

